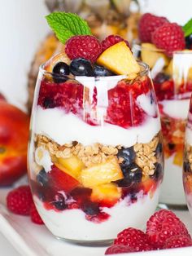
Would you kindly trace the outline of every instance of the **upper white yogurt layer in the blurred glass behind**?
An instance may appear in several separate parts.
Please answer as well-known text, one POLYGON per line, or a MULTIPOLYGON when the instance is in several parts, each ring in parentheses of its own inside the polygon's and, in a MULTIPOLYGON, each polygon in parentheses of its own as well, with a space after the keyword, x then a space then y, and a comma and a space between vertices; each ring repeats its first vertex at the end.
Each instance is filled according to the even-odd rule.
POLYGON ((159 102, 164 113, 175 119, 186 119, 190 107, 190 99, 164 99, 159 102))

